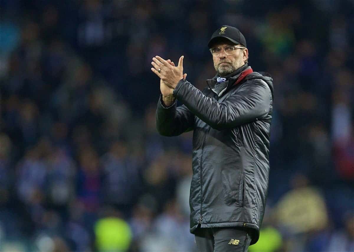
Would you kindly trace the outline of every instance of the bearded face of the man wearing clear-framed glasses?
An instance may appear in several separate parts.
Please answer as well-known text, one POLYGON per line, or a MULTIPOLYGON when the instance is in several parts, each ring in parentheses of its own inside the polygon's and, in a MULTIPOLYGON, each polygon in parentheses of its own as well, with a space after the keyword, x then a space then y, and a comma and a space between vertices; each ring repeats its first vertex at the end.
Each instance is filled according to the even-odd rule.
MULTIPOLYGON (((225 48, 228 45, 235 45, 231 41, 220 41, 215 43, 212 47, 225 48)), ((236 45, 244 47, 243 45, 236 45)), ((216 72, 220 76, 228 75, 234 72, 239 67, 245 64, 245 60, 248 57, 248 50, 246 49, 235 49, 233 55, 226 55, 225 50, 222 49, 219 55, 213 55, 213 62, 216 72)))

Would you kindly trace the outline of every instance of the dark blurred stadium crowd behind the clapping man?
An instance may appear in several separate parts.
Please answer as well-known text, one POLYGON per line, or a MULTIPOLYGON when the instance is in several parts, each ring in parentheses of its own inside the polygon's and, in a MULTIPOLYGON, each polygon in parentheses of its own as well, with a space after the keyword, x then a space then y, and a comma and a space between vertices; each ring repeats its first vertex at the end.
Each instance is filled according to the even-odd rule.
POLYGON ((152 57, 199 89, 238 27, 274 79, 249 251, 354 251, 353 0, 2 0, 0 251, 194 251, 192 132, 155 128, 152 57))

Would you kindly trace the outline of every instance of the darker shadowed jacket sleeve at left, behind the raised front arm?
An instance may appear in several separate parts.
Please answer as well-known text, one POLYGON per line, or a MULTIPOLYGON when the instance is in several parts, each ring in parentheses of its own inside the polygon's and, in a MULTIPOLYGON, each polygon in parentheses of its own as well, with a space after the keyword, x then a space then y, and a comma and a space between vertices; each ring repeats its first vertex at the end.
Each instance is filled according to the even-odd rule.
POLYGON ((194 114, 185 106, 178 106, 175 101, 171 106, 165 107, 162 95, 156 110, 156 129, 163 136, 178 136, 193 130, 194 114))

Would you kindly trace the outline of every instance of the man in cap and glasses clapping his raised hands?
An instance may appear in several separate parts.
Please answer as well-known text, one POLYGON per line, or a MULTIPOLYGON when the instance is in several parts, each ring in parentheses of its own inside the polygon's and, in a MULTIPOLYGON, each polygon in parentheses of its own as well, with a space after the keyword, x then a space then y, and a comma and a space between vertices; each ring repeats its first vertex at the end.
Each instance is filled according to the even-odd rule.
POLYGON ((177 67, 153 58, 162 94, 156 127, 164 136, 194 130, 190 232, 198 250, 247 251, 258 240, 268 190, 272 78, 247 66, 235 27, 217 29, 208 46, 217 73, 203 91, 185 80, 183 56, 177 67))

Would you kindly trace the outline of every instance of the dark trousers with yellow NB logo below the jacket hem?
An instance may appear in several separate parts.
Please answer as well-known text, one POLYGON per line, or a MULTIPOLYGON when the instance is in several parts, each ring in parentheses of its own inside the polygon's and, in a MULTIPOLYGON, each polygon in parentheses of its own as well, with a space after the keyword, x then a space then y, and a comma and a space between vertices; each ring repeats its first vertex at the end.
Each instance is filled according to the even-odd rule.
POLYGON ((198 228, 194 233, 199 252, 246 252, 250 235, 242 228, 198 228))

